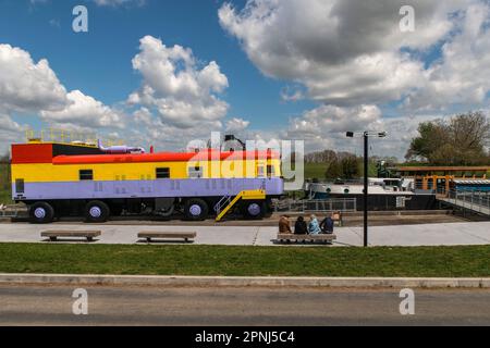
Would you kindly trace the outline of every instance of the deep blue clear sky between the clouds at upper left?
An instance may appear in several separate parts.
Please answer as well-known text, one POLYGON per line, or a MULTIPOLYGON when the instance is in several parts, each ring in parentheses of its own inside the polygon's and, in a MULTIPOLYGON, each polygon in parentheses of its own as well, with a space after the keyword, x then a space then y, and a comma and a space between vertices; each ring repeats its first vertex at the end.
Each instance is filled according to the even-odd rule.
MULTIPOLYGON (((244 1, 235 2, 244 5, 244 1)), ((230 116, 247 117, 257 128, 274 128, 279 120, 286 123, 311 107, 309 101, 281 99, 281 89, 291 84, 266 77, 254 66, 221 28, 221 4, 216 0, 148 0, 145 5, 113 8, 90 1, 3 0, 0 42, 28 51, 35 61, 48 59, 68 89, 81 89, 107 104, 124 100, 138 88, 140 76, 131 60, 139 39, 151 35, 167 46, 191 48, 204 62, 217 61, 230 82, 223 96, 231 107, 230 116), (72 30, 72 9, 81 3, 88 9, 88 33, 72 30)))

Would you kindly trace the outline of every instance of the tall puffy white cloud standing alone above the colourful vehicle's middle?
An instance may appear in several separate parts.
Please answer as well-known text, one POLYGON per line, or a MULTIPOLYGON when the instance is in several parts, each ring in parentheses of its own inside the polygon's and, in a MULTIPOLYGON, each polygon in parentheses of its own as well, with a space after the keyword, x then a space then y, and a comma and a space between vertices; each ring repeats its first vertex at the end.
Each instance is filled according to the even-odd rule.
POLYGON ((229 105, 218 95, 228 78, 216 62, 199 69, 191 49, 167 47, 151 36, 145 36, 139 48, 133 67, 142 74, 143 86, 128 97, 130 104, 155 111, 181 128, 216 123, 226 114, 229 105))

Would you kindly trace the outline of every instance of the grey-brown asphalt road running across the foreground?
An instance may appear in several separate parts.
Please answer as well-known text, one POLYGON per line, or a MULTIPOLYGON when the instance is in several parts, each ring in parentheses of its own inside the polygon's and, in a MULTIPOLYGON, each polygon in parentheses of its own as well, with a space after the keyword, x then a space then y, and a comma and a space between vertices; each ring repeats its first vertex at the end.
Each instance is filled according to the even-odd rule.
POLYGON ((401 315, 400 289, 0 286, 0 325, 490 325, 490 291, 415 289, 401 315), (78 309, 83 307, 76 307, 78 309))

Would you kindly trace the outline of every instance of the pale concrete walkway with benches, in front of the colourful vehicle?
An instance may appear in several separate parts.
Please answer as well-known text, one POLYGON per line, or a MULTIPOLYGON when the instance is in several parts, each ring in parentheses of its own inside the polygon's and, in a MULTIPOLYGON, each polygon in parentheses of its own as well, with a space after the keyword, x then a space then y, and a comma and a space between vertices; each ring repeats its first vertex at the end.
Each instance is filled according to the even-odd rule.
MULTIPOLYGON (((155 226, 155 225, 30 225, 0 224, 0 243, 49 243, 40 237, 46 229, 100 229, 95 244, 136 244, 139 231, 197 232, 195 244, 273 246, 277 227, 257 226, 155 226)), ((362 227, 336 227, 335 246, 362 246, 362 227)), ((145 244, 145 241, 140 243, 145 244)), ((168 244, 168 243, 167 243, 168 244)), ((371 246, 454 246, 490 245, 490 222, 373 226, 369 228, 371 246)))

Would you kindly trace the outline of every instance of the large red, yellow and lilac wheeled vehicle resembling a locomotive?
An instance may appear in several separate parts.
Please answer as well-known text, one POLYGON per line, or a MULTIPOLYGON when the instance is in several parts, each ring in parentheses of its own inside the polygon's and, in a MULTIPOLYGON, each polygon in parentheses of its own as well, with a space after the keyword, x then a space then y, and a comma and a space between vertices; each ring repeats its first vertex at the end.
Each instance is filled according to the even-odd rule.
POLYGON ((283 194, 281 159, 272 150, 145 153, 34 139, 12 145, 11 163, 12 198, 28 206, 33 223, 82 214, 87 222, 105 222, 123 212, 175 210, 199 221, 254 190, 261 195, 248 195, 237 208, 246 217, 261 217, 283 194))

